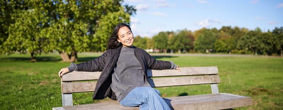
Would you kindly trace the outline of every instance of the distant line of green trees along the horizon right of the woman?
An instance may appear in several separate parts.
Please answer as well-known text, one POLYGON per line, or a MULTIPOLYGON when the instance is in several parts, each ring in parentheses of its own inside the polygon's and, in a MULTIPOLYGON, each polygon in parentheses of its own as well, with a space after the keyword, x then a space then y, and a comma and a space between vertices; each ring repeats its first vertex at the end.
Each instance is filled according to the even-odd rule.
POLYGON ((283 49, 283 27, 262 32, 260 28, 248 30, 231 26, 221 29, 202 28, 194 32, 178 30, 159 32, 152 38, 136 36, 134 45, 161 52, 223 52, 239 54, 280 55, 283 49))

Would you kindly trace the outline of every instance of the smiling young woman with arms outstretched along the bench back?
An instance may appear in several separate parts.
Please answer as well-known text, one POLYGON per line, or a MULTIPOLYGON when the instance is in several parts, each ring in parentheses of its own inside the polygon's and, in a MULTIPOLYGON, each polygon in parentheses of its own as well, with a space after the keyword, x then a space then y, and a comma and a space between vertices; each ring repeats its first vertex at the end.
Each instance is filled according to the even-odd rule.
POLYGON ((93 99, 109 97, 123 106, 140 110, 170 110, 147 80, 147 69, 177 69, 173 62, 156 60, 146 51, 133 46, 131 27, 125 23, 115 26, 108 41, 108 50, 98 58, 84 63, 71 63, 62 68, 59 77, 72 71, 102 71, 93 93, 93 99))

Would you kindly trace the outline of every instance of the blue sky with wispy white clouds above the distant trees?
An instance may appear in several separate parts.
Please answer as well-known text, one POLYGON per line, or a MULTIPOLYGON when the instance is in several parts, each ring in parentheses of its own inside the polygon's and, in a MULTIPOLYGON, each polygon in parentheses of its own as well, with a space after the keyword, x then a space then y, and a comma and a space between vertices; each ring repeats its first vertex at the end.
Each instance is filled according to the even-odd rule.
POLYGON ((220 29, 238 26, 263 32, 283 26, 283 0, 124 0, 136 6, 131 16, 135 36, 161 31, 220 29))

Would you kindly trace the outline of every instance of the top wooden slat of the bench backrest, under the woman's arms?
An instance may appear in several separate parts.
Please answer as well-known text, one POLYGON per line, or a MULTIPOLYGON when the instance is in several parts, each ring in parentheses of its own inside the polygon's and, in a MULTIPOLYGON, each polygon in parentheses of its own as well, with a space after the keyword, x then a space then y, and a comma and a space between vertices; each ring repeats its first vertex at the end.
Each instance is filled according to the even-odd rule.
MULTIPOLYGON (((162 77, 162 76, 186 76, 186 75, 208 75, 218 74, 216 66, 212 67, 184 67, 180 68, 180 72, 175 69, 165 70, 147 70, 147 77, 162 77)), ((62 81, 82 81, 82 80, 98 80, 101 72, 82 72, 73 71, 64 74, 62 81)))

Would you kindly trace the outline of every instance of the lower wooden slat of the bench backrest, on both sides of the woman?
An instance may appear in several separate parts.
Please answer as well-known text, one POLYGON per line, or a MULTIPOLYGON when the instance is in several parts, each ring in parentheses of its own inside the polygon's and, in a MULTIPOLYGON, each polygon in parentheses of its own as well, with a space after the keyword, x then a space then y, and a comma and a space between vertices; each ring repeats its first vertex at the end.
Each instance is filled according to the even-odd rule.
MULTIPOLYGON (((219 83, 219 75, 191 76, 174 78, 148 78, 152 87, 178 86, 178 85, 198 85, 219 83)), ((96 81, 62 83, 62 93, 90 92, 94 91, 96 81)))

